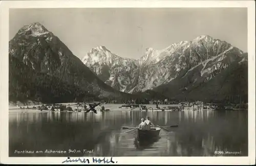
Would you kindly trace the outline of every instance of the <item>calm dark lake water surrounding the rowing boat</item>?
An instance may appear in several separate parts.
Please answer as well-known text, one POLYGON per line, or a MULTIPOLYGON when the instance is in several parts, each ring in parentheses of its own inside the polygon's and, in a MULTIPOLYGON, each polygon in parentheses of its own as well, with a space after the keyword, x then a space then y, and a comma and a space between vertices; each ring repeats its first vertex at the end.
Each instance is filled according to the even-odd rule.
MULTIPOLYGON (((106 109, 108 107, 105 106, 106 109)), ((223 156, 247 156, 247 119, 247 110, 110 111, 98 114, 10 111, 9 155, 16 157, 220 156, 223 154, 215 154, 215 152, 228 151, 239 154, 223 156), (151 143, 138 143, 134 139, 133 132, 123 133, 127 130, 123 130, 122 126, 137 126, 140 118, 145 116, 150 116, 151 121, 160 126, 179 126, 166 128, 169 132, 161 130, 159 139, 151 143), (27 153, 17 153, 24 150, 27 150, 27 153), (67 153, 46 153, 46 150, 67 151, 67 153)))

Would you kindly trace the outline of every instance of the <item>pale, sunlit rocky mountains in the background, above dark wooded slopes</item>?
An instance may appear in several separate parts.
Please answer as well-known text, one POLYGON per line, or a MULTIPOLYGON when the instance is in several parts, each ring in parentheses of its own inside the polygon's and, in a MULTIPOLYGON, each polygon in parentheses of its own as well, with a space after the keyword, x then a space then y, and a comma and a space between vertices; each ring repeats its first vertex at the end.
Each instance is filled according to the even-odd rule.
MULTIPOLYGON (((83 63, 88 66, 94 66, 94 57, 104 57, 108 54, 100 49, 95 54, 88 53, 82 59, 83 63)), ((105 49, 107 50, 107 49, 105 49)), ((108 57, 108 62, 105 58, 97 59, 97 67, 90 67, 97 75, 104 75, 103 81, 124 92, 138 92, 147 89, 153 89, 163 84, 167 84, 176 78, 181 78, 187 75, 195 68, 199 68, 197 76, 198 80, 210 80, 222 70, 227 68, 232 63, 237 63, 244 57, 244 53, 231 44, 214 39, 210 36, 199 36, 193 41, 182 41, 174 43, 163 50, 154 50, 147 48, 145 54, 138 60, 129 60, 118 57, 118 67, 115 67, 109 61, 114 61, 111 56, 108 57), (103 65, 102 65, 103 64, 103 65), (104 72, 108 73, 105 75, 104 72), (118 68, 118 69, 110 69, 118 68), (206 77, 206 78, 205 78, 206 77)))

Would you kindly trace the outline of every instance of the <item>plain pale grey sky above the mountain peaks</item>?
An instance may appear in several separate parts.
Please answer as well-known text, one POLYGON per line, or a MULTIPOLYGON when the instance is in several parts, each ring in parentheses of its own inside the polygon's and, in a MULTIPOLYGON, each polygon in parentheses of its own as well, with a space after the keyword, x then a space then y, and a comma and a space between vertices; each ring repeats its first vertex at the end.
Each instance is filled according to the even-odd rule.
POLYGON ((10 9, 9 38, 41 23, 79 58, 104 45, 138 59, 146 48, 161 50, 200 35, 225 40, 247 52, 246 8, 48 8, 10 9))

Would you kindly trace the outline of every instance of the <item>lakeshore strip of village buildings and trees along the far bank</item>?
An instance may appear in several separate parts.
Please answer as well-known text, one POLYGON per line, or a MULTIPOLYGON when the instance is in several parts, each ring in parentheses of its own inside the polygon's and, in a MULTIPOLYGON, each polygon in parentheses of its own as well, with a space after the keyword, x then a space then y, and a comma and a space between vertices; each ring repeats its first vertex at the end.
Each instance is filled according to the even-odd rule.
MULTIPOLYGON (((47 112, 90 112, 95 110, 95 112, 108 112, 108 111, 203 111, 203 110, 246 110, 248 109, 248 103, 240 104, 222 104, 222 103, 203 103, 202 101, 195 102, 172 102, 165 100, 155 100, 148 101, 146 104, 138 104, 137 101, 131 100, 126 103, 118 103, 113 100, 111 103, 106 103, 105 101, 91 101, 83 103, 61 103, 61 104, 41 104, 41 105, 28 105, 19 106, 16 108, 20 110, 33 109, 37 111, 47 111, 47 112), (112 105, 108 108, 108 105, 112 105), (113 109, 113 105, 116 106, 113 109), (106 107, 106 108, 105 108, 106 107)), ((25 111, 24 111, 25 112, 25 111)))

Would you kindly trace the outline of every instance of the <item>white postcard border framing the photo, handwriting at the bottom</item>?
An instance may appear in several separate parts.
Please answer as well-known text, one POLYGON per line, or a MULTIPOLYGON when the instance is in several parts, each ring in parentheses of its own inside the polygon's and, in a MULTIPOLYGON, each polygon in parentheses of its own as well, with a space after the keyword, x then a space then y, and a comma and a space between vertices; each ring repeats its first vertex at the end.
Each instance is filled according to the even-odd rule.
MULTIPOLYGON (((115 164, 255 164, 255 2, 254 1, 1 1, 0 2, 0 162, 60 164, 67 157, 9 157, 8 43, 10 8, 219 8, 248 12, 248 157, 113 157, 115 164)), ((235 34, 234 34, 235 35, 235 34)), ((84 157, 92 159, 92 157, 84 157)), ((79 163, 74 163, 79 164, 79 163)), ((81 163, 82 164, 82 163, 81 163)), ((91 164, 91 163, 90 163, 91 164)), ((93 163, 92 163, 93 164, 93 163)))

